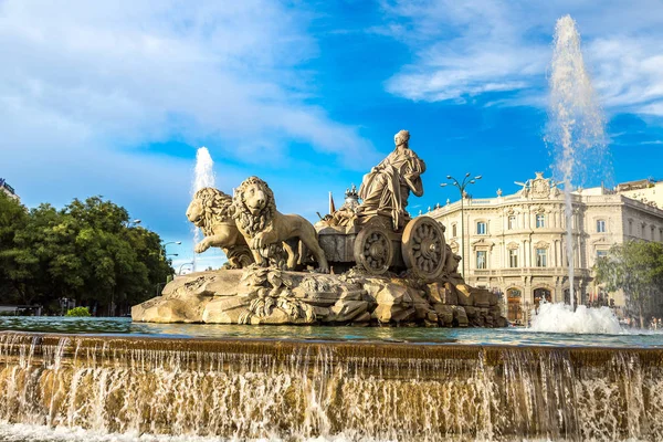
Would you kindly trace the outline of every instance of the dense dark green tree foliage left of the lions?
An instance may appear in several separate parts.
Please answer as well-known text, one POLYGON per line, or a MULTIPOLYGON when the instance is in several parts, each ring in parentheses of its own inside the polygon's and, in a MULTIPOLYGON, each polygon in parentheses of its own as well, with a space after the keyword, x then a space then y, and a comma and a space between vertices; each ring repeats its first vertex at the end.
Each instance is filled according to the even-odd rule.
POLYGON ((99 315, 147 299, 173 271, 159 235, 128 221, 126 209, 101 197, 27 211, 0 192, 2 303, 55 309, 66 297, 99 315))

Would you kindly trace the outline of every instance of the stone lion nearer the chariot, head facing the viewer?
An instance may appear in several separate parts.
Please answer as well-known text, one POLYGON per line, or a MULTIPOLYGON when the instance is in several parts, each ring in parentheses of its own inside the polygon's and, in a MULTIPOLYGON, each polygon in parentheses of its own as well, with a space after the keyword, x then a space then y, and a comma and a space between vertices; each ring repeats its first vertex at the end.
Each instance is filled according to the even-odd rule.
POLYGON ((283 214, 276 210, 274 193, 270 186, 257 177, 250 177, 235 189, 233 198, 234 219, 244 235, 253 259, 263 264, 264 257, 272 257, 270 248, 283 244, 288 254, 287 269, 294 270, 298 261, 302 242, 314 255, 318 271, 329 272, 325 252, 317 240, 313 224, 298 214, 283 214), (262 254, 261 254, 262 251, 262 254))

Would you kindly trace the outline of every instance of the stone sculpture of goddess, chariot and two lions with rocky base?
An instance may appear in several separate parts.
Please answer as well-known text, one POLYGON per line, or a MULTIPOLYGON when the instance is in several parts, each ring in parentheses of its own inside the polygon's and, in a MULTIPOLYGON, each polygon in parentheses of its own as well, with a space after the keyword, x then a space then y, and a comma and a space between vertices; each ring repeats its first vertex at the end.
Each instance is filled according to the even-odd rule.
POLYGON ((221 248, 219 271, 176 277, 162 295, 131 311, 136 322, 206 324, 421 325, 504 327, 497 295, 471 287, 444 227, 411 219, 425 162, 394 136, 394 150, 364 177, 359 191, 315 225, 282 214, 270 186, 250 177, 231 197, 204 187, 187 210, 221 248))

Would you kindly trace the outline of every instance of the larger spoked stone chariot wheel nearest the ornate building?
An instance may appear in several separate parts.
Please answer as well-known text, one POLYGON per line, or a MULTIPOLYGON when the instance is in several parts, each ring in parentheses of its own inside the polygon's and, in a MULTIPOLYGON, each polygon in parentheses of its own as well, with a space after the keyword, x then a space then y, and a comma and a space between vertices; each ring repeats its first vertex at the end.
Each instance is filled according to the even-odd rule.
POLYGON ((442 274, 446 246, 442 225, 430 217, 417 217, 403 231, 402 254, 406 267, 415 276, 432 281, 442 274))

